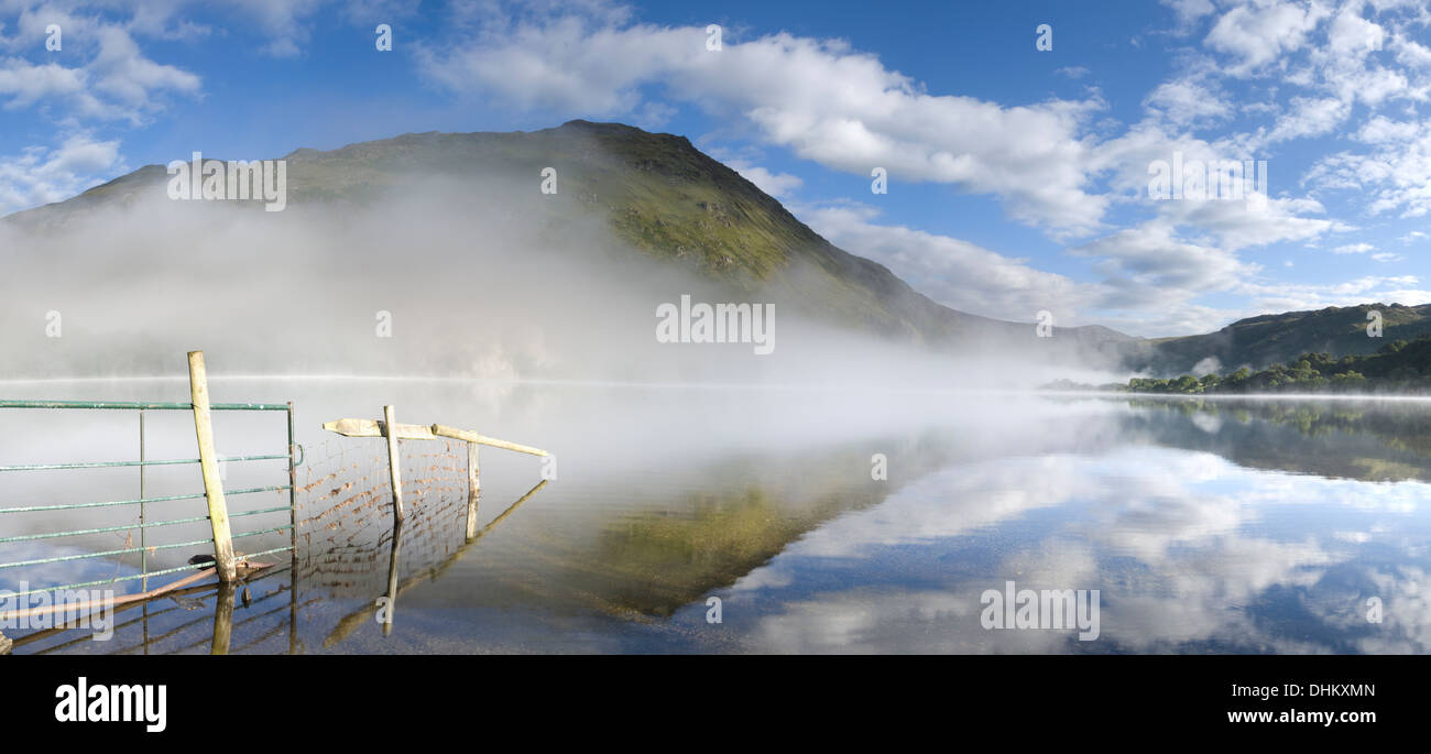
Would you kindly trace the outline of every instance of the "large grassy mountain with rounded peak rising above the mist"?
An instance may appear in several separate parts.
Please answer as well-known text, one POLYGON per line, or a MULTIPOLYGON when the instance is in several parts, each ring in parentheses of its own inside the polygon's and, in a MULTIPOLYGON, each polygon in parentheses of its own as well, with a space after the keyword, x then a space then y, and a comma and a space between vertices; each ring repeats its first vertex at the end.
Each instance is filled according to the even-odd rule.
MULTIPOLYGON (((288 203, 362 207, 416 180, 522 176, 538 197, 545 167, 558 193, 602 216, 627 245, 683 265, 751 298, 778 293, 817 320, 936 349, 982 343, 1043 346, 1047 353, 1135 339, 1108 328, 1060 328, 1036 343, 1033 323, 959 312, 916 292, 883 265, 836 248, 778 200, 683 136, 618 123, 572 120, 512 133, 415 133, 331 152, 299 149, 288 160, 288 203)), ((152 165, 57 205, 11 215, 23 227, 63 225, 74 213, 163 195, 169 176, 152 165)), ((529 186, 529 189, 528 189, 529 186)), ((761 300, 761 299, 754 299, 761 300)))

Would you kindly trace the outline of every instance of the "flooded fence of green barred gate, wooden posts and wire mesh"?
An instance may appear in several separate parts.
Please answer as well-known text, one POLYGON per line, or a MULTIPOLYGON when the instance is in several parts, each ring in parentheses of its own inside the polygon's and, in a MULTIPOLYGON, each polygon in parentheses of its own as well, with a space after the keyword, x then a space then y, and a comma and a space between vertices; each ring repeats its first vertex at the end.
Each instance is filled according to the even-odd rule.
MULTIPOLYGON (((63 585, 49 585, 39 587, 27 591, 19 592, 3 592, 6 597, 26 597, 39 592, 60 592, 67 589, 80 589, 83 587, 97 587, 109 585, 120 581, 142 581, 142 594, 126 595, 117 602, 120 604, 137 604, 147 601, 149 598, 162 594, 167 589, 177 589, 187 584, 205 578, 207 575, 218 575, 219 578, 219 612, 225 611, 223 605, 228 605, 229 618, 232 618, 232 601, 233 591, 232 585, 238 578, 238 567, 240 564, 249 564, 248 558, 255 558, 260 555, 272 555, 278 552, 292 554, 292 584, 290 589, 293 597, 290 598, 293 604, 293 615, 290 617, 290 635, 296 635, 296 591, 298 591, 298 494, 302 489, 315 506, 323 508, 315 512, 311 521, 305 522, 308 534, 305 541, 312 539, 315 531, 322 532, 323 529, 335 531, 328 534, 329 549, 338 551, 338 561, 331 561, 331 554, 325 554, 323 562, 313 565, 315 574, 333 572, 333 575, 345 571, 345 564, 342 562, 342 554, 346 552, 358 561, 366 559, 375 555, 362 542, 359 534, 366 528, 365 525, 353 525, 355 521, 345 521, 351 516, 363 519, 371 512, 376 511, 378 506, 391 501, 394 528, 386 534, 391 537, 392 564, 389 564, 389 588, 388 594, 392 599, 396 598, 396 592, 401 591, 396 585, 396 544, 401 541, 401 528, 404 521, 404 486, 405 481, 411 481, 409 494, 415 495, 416 499, 435 496, 436 499, 429 501, 434 505, 425 506, 414 522, 418 529, 424 527, 441 527, 441 522, 451 515, 462 515, 462 504, 465 502, 465 539, 467 545, 471 545, 478 538, 481 538, 487 531, 491 529, 497 522, 504 519, 511 511, 517 508, 522 501, 531 496, 532 492, 541 488, 532 489, 522 501, 509 508, 501 516, 498 516, 487 529, 481 532, 477 529, 477 506, 481 495, 479 469, 478 469, 478 446, 489 445, 495 448, 502 448, 508 451, 550 456, 547 451, 531 448, 527 445, 518 445, 514 442, 489 438, 479 435, 468 429, 455 429, 445 425, 399 425, 394 418, 394 408, 384 406, 384 419, 339 419, 336 422, 328 422, 323 425, 325 429, 335 432, 338 435, 349 438, 382 438, 386 446, 386 454, 375 454, 373 465, 385 466, 382 471, 376 468, 372 469, 372 479, 365 489, 353 489, 355 484, 369 481, 368 476, 362 476, 355 481, 342 481, 341 472, 358 471, 358 465, 348 469, 346 464, 339 464, 339 469, 333 469, 326 475, 312 478, 309 484, 299 488, 298 485, 298 466, 303 464, 302 446, 295 442, 293 434, 293 403, 210 403, 207 391, 207 378, 203 365, 203 353, 192 352, 189 353, 189 382, 190 382, 190 398, 187 403, 163 403, 163 402, 119 402, 119 401, 0 401, 0 409, 74 409, 74 411, 133 411, 139 419, 139 458, 136 461, 76 461, 76 462, 60 462, 60 464, 23 464, 23 465, 0 465, 0 476, 6 474, 30 472, 30 471, 72 471, 72 469, 97 469, 97 468, 136 468, 139 472, 139 496, 133 499, 112 499, 100 502, 66 502, 66 504, 47 504, 47 505, 24 505, 0 508, 0 521, 3 521, 9 514, 56 514, 62 511, 90 511, 90 509, 107 509, 107 508, 122 508, 122 506, 137 506, 139 519, 137 522, 107 525, 107 527, 89 527, 76 528, 64 531, 44 531, 31 534, 14 534, 0 537, 0 545, 7 544, 26 544, 36 541, 49 541, 67 537, 83 537, 83 535, 99 535, 99 534, 117 534, 117 532, 133 532, 139 531, 140 542, 139 547, 123 547, 117 549, 102 549, 99 552, 80 552, 70 555, 54 555, 46 558, 30 558, 19 559, 11 562, 0 562, 0 575, 9 569, 23 568, 23 567, 41 567, 50 564, 63 564, 72 561, 92 561, 99 558, 123 558, 126 555, 139 554, 140 568, 137 574, 120 577, 116 571, 113 578, 82 581, 74 584, 63 585), (175 459, 150 459, 146 454, 146 434, 145 434, 145 418, 147 412, 153 411, 190 411, 193 412, 195 421, 195 436, 197 441, 199 458, 175 458, 175 459), (286 454, 266 454, 266 455, 240 455, 240 456, 225 456, 220 458, 215 452, 213 445, 213 426, 210 421, 210 412, 226 411, 226 412, 286 412, 288 416, 288 452, 286 454), (429 452, 416 454, 414 461, 414 468, 408 469, 408 474, 402 471, 402 454, 399 451, 399 441, 442 441, 441 449, 434 448, 429 452), (384 459, 382 456, 386 455, 384 459), (282 485, 266 485, 266 486, 252 486, 246 489, 230 489, 225 491, 219 462, 250 462, 250 461, 288 461, 288 484, 282 485), (462 461, 467 461, 462 464, 462 461), (385 461, 385 464, 384 464, 385 461), (146 489, 146 469, 150 466, 175 466, 175 465, 193 465, 200 466, 203 475, 203 492, 179 494, 179 495, 147 495, 146 489), (386 485, 379 482, 381 476, 386 476, 386 485), (373 484, 376 482, 376 484, 373 484), (465 482, 465 484, 462 484, 465 482), (329 486, 323 486, 329 485, 329 486), (386 495, 384 495, 384 488, 386 495), (229 514, 226 495, 249 495, 262 492, 288 492, 288 505, 276 508, 259 508, 252 511, 242 511, 236 514, 229 514), (449 495, 452 499, 449 499, 449 495), (461 498, 456 498, 461 495, 461 498), (172 519, 150 521, 149 505, 152 504, 167 504, 185 499, 199 499, 205 498, 207 502, 206 515, 192 515, 172 519), (386 498, 386 499, 384 499, 386 498), (465 498, 465 499, 462 499, 465 498), (326 506, 325 506, 326 504, 326 506), (263 514, 276 514, 288 511, 288 524, 280 527, 258 528, 253 531, 230 531, 230 518, 246 518, 263 514), (183 542, 166 542, 166 544, 150 544, 149 531, 159 529, 165 527, 179 527, 185 524, 196 524, 207 521, 210 525, 212 537, 203 539, 183 541, 183 542), (289 544, 286 547, 269 548, 259 552, 249 552, 242 558, 235 557, 233 541, 245 539, 250 537, 260 537, 268 534, 276 534, 288 531, 289 544), (343 538, 342 542, 339 539, 343 538), (162 568, 157 571, 150 571, 150 555, 157 551, 169 551, 179 548, 192 548, 200 545, 212 545, 213 548, 213 569, 203 571, 202 574, 193 574, 193 565, 179 565, 175 568, 162 568), (153 592, 147 591, 149 578, 166 574, 176 574, 179 571, 190 571, 187 578, 173 582, 169 587, 156 589, 153 592)), ((544 472, 545 475, 545 472, 544 472)), ((312 475, 311 475, 312 476, 312 475)), ((379 535, 378 545, 384 542, 379 535)), ((130 542, 126 542, 126 545, 130 542)), ((312 544, 312 542, 311 542, 312 544)), ((458 545, 458 551, 464 549, 458 545)), ((449 552, 442 555, 449 557, 449 552)), ((3 548, 0 548, 0 557, 3 557, 3 548)), ((262 564, 258 564, 262 565, 262 564)), ((346 564, 352 565, 352 564, 346 564)), ((342 579, 342 577, 339 577, 342 579)), ((333 587, 329 584, 329 587, 333 587)), ((349 585, 351 587, 351 585, 349 585)), ((361 589, 366 592, 366 589, 361 589)), ((109 598, 113 601, 113 598, 109 598)), ((59 611, 63 605, 56 601, 54 608, 31 608, 29 611, 0 611, 0 618, 13 618, 16 614, 34 614, 34 611, 54 609, 59 611)), ((147 608, 145 608, 145 631, 147 635, 147 608)), ((226 652, 229 645, 229 631, 232 630, 230 620, 223 620, 222 615, 215 620, 215 640, 213 651, 226 652)), ((30 635, 24 641, 33 641, 44 638, 43 635, 30 635)), ((20 641, 20 640, 16 640, 20 641)), ((292 645, 296 645, 296 638, 290 640, 292 645)), ((6 654, 10 648, 10 640, 0 634, 0 654, 6 654)))

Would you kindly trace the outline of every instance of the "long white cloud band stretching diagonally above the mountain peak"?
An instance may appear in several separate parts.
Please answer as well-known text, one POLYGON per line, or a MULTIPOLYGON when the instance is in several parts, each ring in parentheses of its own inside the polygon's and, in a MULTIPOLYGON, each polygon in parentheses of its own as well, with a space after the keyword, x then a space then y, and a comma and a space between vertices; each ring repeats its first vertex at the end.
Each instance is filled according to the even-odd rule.
POLYGON ((524 109, 620 116, 645 96, 688 102, 754 126, 770 145, 827 167, 893 185, 937 182, 1000 197, 1009 213, 1062 232, 1096 229, 1108 206, 1090 193, 1082 129, 1096 99, 1005 107, 934 96, 840 40, 728 36, 704 27, 612 23, 575 14, 497 24, 419 53, 436 84, 524 109))

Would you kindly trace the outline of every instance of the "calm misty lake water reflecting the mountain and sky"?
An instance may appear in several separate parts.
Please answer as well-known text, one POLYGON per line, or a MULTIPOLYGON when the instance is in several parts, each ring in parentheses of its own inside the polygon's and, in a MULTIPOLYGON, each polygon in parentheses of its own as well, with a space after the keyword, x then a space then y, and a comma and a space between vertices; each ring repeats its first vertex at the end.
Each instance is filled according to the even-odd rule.
MULTIPOLYGON (((6 383, 0 392, 182 401, 185 388, 6 383)), ((216 379, 213 399, 295 401, 306 456, 296 572, 286 558, 270 558, 283 562, 250 584, 248 604, 242 592, 199 588, 127 609, 104 642, 83 641, 80 631, 6 630, 21 640, 16 652, 209 652, 220 624, 219 648, 230 652, 1431 645, 1431 403, 351 379, 216 379), (384 403, 396 405, 399 422, 547 448, 555 478, 538 486, 541 459, 484 448, 482 534, 467 542, 465 451, 405 444, 405 474, 426 486, 406 491, 409 518, 395 557, 381 441, 318 428, 376 418, 384 403), (874 454, 887 458, 887 479, 871 479, 874 454), (352 486, 335 494, 332 479, 352 486), (363 489, 381 494, 351 501, 363 489), (1098 637, 985 628, 985 592, 1010 581, 1016 589, 1096 589, 1098 637), (395 607, 379 604, 394 584, 395 607), (708 620, 710 598, 720 601, 720 622, 708 620), (222 637, 229 620, 216 605, 229 601, 232 632, 222 637)), ((60 413, 6 412, 0 464, 136 452, 127 412, 60 413)), ((172 413, 147 426, 150 458, 193 455, 192 419, 185 428, 187 416, 172 413)), ((216 422, 220 454, 280 452, 286 442, 280 413, 216 422)), ((226 488, 286 481, 282 462, 230 466, 226 488)), ((123 499, 135 484, 133 469, 36 474, 43 478, 0 476, 0 506, 123 499)), ((202 489, 196 466, 150 484, 150 494, 202 489)), ((235 498, 230 511, 285 499, 250 498, 235 498)), ((202 501, 173 505, 202 511, 202 501)), ((0 537, 94 519, 9 518, 0 516, 0 537)), ((275 518, 280 524, 286 514, 275 518)), ((155 537, 202 538, 205 527, 155 537)), ((0 544, 0 561, 62 552, 62 542, 73 548, 64 552, 114 549, 123 545, 117 537, 0 544)), ((240 549, 283 544, 286 532, 240 549)), ((156 554, 156 562, 182 564, 203 551, 156 554)), ((136 565, 133 557, 72 561, 24 577, 112 578, 136 565)), ((0 588, 19 578, 0 569, 0 588)))

